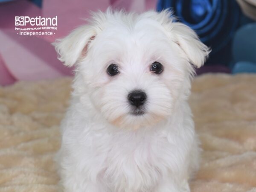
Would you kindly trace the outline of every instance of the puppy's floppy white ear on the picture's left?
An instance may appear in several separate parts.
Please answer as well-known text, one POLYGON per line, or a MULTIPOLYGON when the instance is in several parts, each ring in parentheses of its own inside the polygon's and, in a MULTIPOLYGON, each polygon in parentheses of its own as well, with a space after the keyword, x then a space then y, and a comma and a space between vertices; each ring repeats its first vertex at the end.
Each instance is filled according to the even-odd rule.
POLYGON ((57 39, 53 45, 58 53, 58 59, 67 67, 72 67, 82 55, 86 54, 87 45, 95 35, 93 26, 80 26, 67 37, 57 39))

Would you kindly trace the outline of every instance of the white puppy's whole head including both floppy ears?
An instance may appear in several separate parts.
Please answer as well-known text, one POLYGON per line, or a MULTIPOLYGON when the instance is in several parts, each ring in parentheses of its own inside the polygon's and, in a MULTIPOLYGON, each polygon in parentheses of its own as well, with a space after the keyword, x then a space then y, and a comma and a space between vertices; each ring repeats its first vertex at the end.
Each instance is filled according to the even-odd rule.
POLYGON ((75 92, 117 127, 154 125, 190 93, 195 67, 209 53, 168 11, 93 14, 90 23, 55 43, 59 59, 76 64, 75 92), (89 99, 89 100, 88 100, 89 99))

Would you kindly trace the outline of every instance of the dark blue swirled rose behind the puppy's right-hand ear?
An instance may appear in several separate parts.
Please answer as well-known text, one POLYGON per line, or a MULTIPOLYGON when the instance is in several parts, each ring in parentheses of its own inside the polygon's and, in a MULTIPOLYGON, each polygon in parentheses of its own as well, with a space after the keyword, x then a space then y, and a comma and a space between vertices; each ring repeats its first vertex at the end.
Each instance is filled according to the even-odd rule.
POLYGON ((157 11, 167 8, 212 48, 211 55, 227 46, 239 25, 240 9, 235 0, 158 0, 157 11))

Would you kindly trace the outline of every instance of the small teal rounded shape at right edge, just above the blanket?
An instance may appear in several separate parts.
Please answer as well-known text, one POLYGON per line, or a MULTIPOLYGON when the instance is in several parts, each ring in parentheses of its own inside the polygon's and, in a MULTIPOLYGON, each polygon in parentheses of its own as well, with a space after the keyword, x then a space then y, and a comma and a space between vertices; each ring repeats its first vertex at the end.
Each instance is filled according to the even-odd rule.
POLYGON ((256 63, 249 61, 239 61, 234 65, 232 73, 256 73, 256 63))

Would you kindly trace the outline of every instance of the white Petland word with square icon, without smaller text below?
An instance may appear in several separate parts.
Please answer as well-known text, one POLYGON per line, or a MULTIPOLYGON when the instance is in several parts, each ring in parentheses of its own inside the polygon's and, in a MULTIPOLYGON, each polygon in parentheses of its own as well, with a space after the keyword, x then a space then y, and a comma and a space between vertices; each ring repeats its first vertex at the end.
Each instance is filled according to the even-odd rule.
POLYGON ((57 26, 58 17, 29 17, 15 16, 15 26, 26 26, 29 23, 31 26, 57 26))

